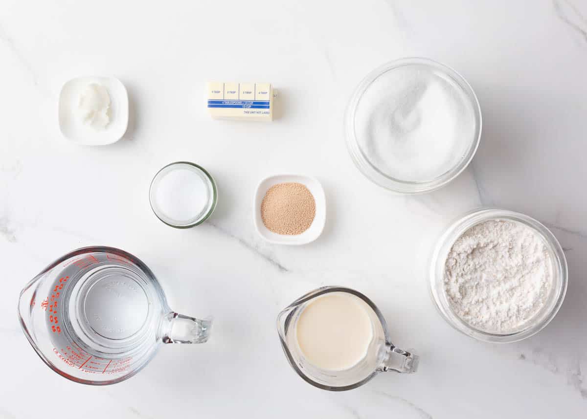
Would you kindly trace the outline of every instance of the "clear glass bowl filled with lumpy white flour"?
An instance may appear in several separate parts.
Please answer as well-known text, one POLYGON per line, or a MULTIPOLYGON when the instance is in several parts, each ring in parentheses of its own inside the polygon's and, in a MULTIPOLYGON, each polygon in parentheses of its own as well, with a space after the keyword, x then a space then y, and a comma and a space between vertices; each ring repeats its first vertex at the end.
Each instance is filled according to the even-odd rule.
POLYGON ((538 333, 565 298, 568 269, 555 236, 518 212, 481 208, 453 222, 438 240, 430 289, 455 329, 485 342, 538 333))

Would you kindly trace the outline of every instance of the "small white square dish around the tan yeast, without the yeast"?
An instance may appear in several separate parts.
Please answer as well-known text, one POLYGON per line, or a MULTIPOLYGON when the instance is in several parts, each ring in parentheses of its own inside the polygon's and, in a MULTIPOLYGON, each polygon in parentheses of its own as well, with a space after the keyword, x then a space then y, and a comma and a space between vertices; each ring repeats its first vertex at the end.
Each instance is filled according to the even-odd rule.
POLYGON ((326 196, 322 185, 313 177, 296 174, 273 175, 259 182, 253 202, 253 222, 258 234, 269 243, 282 245, 303 245, 315 241, 321 234, 326 223, 326 196), (316 214, 312 224, 306 231, 298 235, 284 235, 275 233, 263 224, 261 218, 261 203, 265 194, 272 186, 279 183, 301 183, 311 192, 316 204, 316 214))

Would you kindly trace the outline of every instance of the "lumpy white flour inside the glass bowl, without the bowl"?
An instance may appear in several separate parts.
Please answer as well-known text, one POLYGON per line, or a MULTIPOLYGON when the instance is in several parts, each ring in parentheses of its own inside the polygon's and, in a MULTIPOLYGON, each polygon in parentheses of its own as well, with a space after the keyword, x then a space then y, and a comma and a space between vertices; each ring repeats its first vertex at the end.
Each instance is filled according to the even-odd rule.
POLYGON ((444 266, 444 290, 453 311, 490 333, 523 327, 544 306, 552 281, 544 242, 512 221, 474 225, 454 242, 444 266))

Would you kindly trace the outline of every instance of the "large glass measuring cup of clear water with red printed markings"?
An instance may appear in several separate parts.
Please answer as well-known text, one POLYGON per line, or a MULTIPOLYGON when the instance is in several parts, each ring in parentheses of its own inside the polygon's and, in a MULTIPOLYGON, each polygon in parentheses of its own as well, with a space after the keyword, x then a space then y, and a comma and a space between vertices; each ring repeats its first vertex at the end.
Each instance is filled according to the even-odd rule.
POLYGON ((120 249, 77 249, 21 292, 18 313, 36 353, 76 383, 136 374, 162 343, 204 343, 211 321, 174 313, 153 272, 120 249))

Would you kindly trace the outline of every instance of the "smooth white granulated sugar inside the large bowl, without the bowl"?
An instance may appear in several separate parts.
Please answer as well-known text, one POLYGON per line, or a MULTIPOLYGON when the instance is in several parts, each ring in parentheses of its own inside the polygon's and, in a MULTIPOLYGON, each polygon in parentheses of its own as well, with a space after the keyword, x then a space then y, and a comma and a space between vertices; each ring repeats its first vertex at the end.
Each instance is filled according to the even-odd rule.
POLYGON ((355 116, 357 141, 373 167, 401 181, 426 182, 454 168, 475 134, 471 99, 428 66, 402 66, 373 81, 355 116))

